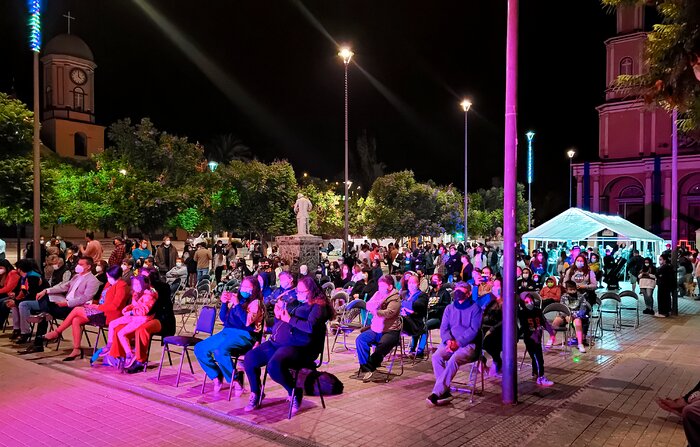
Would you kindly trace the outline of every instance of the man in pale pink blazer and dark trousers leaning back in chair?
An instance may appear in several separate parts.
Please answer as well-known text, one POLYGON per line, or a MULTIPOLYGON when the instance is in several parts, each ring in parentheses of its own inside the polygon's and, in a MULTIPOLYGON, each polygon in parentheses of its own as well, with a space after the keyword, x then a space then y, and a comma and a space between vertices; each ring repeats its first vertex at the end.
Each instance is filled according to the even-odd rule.
MULTIPOLYGON (((73 308, 91 302, 100 281, 92 274, 94 261, 89 257, 82 257, 75 266, 75 275, 69 280, 37 293, 36 301, 25 301, 19 305, 20 323, 22 333, 29 334, 28 318, 31 312, 48 311, 55 319, 65 319, 73 308)), ((20 354, 30 354, 44 351, 44 334, 48 330, 49 323, 44 319, 37 328, 34 345, 22 351, 20 354)))

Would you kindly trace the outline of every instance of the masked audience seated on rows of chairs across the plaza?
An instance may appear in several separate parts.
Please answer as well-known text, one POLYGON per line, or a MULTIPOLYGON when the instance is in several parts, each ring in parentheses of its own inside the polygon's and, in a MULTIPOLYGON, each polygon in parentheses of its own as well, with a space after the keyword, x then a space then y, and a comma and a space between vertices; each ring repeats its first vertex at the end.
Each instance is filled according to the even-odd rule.
MULTIPOLYGON (((334 297, 341 292, 346 299, 341 308, 349 300, 364 302, 365 327, 355 341, 359 379, 373 380, 402 335, 410 338, 409 355, 424 358, 433 329, 439 329, 441 342, 432 357, 435 384, 429 404, 448 402, 459 367, 473 362, 485 366, 484 352, 492 359, 489 374, 501 374, 502 257, 499 250, 485 245, 426 244, 400 250, 398 244, 386 249, 363 244, 340 262, 321 260, 315 272, 302 265, 293 275, 288 266, 260 256, 251 271, 245 259, 220 243, 214 250, 206 243, 188 243, 180 254, 169 237, 154 250, 146 240, 132 248, 116 238, 105 262, 99 241, 91 233, 85 239, 85 246, 65 249, 52 241, 43 269, 33 259, 22 259, 15 266, 0 260, 0 325, 4 327, 11 314, 11 339, 26 345, 32 324, 38 323, 34 341, 20 354, 42 352, 47 341, 70 328, 73 349, 64 361, 82 358, 83 328, 90 325, 107 331, 106 344, 94 352, 91 364, 143 371, 152 336, 175 333, 175 292, 195 286, 211 268, 218 284, 222 329, 196 344, 194 354, 216 392, 228 382, 240 395, 244 375, 248 378, 246 411, 259 408, 265 397, 263 366, 287 391, 292 412, 298 410, 303 390, 290 370, 308 366, 322 355, 327 323, 336 318, 334 297), (331 291, 326 293, 329 284, 331 291), (47 332, 50 320, 62 321, 47 332), (244 357, 239 371, 235 357, 244 357)), ((561 269, 544 250, 518 258, 520 334, 532 359, 533 377, 541 386, 553 385, 544 374, 543 333, 550 335, 545 344, 549 348, 556 343, 555 329, 571 325, 578 350, 585 353, 600 281, 593 266, 598 262, 595 252, 582 253, 575 246, 559 261, 561 269), (552 303, 564 304, 570 314, 548 321, 542 310, 552 303)), ((641 266, 640 286, 654 274, 648 264, 641 266)))

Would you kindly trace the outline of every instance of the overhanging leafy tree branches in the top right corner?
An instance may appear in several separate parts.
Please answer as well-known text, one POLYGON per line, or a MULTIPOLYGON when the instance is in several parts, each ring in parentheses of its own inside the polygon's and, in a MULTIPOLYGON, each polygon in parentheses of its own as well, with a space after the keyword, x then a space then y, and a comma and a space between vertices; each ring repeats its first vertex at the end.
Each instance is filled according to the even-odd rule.
POLYGON ((647 35, 648 72, 619 76, 615 86, 667 110, 677 107, 685 113, 679 127, 687 132, 700 120, 700 0, 602 0, 610 9, 650 3, 662 22, 647 35))

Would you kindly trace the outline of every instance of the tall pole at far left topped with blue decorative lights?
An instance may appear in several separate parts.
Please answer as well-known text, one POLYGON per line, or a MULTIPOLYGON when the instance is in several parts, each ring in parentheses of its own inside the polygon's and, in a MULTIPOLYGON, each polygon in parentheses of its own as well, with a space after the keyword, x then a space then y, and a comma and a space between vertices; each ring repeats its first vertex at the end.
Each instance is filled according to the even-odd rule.
POLYGON ((41 148, 39 139, 39 52, 41 51, 41 2, 31 0, 29 2, 29 48, 34 53, 34 231, 32 234, 34 247, 34 260, 41 262, 41 247, 39 236, 41 233, 41 148))

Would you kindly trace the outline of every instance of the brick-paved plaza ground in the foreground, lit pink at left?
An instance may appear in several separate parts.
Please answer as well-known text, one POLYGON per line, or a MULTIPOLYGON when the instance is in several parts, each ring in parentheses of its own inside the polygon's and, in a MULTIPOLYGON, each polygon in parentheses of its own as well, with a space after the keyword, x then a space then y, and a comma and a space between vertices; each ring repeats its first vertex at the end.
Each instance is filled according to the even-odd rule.
MULTIPOLYGON (((185 367, 179 387, 175 367, 166 366, 158 382, 158 343, 148 372, 128 375, 91 368, 87 360, 62 362, 69 342, 59 351, 52 344, 42 354, 20 357, 8 331, 0 336, 0 411, 6 415, 0 444, 684 446, 679 418, 654 402, 700 379, 700 302, 680 299, 679 307, 678 317, 641 315, 636 329, 606 332, 588 353, 545 354, 547 376, 556 383, 551 388, 534 384, 527 359, 519 371, 520 402, 512 407, 501 404, 497 378, 486 379, 473 403, 457 394, 450 405, 428 407, 430 362, 408 364, 388 383, 362 383, 350 378, 354 352, 336 347, 321 369, 343 381, 344 393, 328 397, 326 409, 318 397, 306 397, 291 420, 285 392, 275 384, 261 410, 245 413, 247 392, 229 402, 226 387, 216 395, 208 384, 200 394, 203 374, 196 364, 194 375, 185 367)), ((626 322, 631 316, 624 313, 626 322)), ((522 343, 518 348, 522 356, 522 343)))

